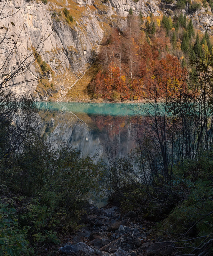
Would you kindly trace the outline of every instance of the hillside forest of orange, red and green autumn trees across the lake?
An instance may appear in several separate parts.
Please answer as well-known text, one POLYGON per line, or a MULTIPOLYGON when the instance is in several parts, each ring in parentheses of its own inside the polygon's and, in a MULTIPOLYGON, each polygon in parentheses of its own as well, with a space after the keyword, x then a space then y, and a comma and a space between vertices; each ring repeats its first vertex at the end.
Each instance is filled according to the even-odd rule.
POLYGON ((192 20, 182 13, 160 20, 130 10, 126 29, 112 28, 105 37, 89 90, 93 98, 110 101, 196 94, 195 65, 211 56, 208 33, 195 36, 192 20))

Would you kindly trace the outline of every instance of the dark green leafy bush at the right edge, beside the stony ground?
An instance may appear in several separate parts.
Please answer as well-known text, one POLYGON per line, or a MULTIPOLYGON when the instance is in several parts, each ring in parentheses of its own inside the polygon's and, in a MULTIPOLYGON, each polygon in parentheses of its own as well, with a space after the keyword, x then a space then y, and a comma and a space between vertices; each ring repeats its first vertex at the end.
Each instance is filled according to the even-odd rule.
POLYGON ((190 236, 205 236, 212 232, 212 155, 212 151, 204 152, 197 160, 186 160, 182 165, 176 166, 176 178, 172 187, 177 189, 185 200, 180 202, 165 220, 169 231, 186 232, 190 236), (188 192, 185 194, 185 191, 188 192))

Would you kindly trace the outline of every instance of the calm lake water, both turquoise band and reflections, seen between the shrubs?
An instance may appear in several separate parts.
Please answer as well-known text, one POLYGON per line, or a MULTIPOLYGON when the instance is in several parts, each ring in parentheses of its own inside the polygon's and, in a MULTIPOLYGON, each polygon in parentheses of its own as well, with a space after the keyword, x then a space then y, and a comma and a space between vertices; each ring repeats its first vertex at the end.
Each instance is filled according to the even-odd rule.
MULTIPOLYGON (((144 103, 37 102, 42 132, 54 146, 73 145, 82 156, 104 158, 108 144, 116 143, 120 156, 136 147, 131 118, 143 114, 144 103)), ((147 106, 148 108, 148 106, 147 106)))

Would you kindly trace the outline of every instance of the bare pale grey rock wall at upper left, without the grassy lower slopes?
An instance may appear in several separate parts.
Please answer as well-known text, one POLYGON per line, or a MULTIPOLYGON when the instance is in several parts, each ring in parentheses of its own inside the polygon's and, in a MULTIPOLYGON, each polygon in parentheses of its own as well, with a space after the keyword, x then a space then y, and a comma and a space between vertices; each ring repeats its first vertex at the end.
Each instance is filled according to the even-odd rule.
MULTIPOLYGON (((26 63, 33 61, 35 54, 33 55, 32 52, 35 49, 42 61, 45 61, 51 68, 58 67, 54 70, 56 75, 63 76, 68 69, 78 75, 83 73, 94 53, 98 51, 103 38, 103 30, 95 18, 95 12, 89 8, 86 8, 78 22, 69 26, 63 17, 60 20, 53 18, 54 6, 51 4, 12 0, 1 1, 0 5, 4 12, 1 14, 3 29, 0 30, 0 36, 4 39, 1 43, 1 50, 9 50, 9 52, 4 50, 1 52, 1 65, 9 56, 7 64, 4 64, 6 70, 3 76, 10 74, 18 63, 26 58, 26 63)), ((36 62, 26 69, 28 70, 23 70, 26 71, 25 73, 22 72, 20 76, 13 78, 13 83, 17 83, 18 80, 31 80, 42 73, 36 62)), ((51 81, 51 77, 48 78, 51 81)), ((16 86, 13 90, 18 95, 25 92, 39 100, 40 98, 35 97, 34 94, 36 87, 37 81, 26 82, 16 86)), ((47 98, 48 95, 41 99, 47 98)))

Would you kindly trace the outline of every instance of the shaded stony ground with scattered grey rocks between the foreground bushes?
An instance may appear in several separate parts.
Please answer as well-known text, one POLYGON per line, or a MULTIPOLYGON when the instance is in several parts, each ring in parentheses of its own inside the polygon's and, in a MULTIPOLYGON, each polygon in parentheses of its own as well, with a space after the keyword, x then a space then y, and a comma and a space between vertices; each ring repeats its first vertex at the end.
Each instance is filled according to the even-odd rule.
POLYGON ((174 244, 150 236, 154 223, 139 221, 135 212, 119 207, 88 206, 83 228, 59 248, 60 255, 136 256, 171 255, 174 244))

